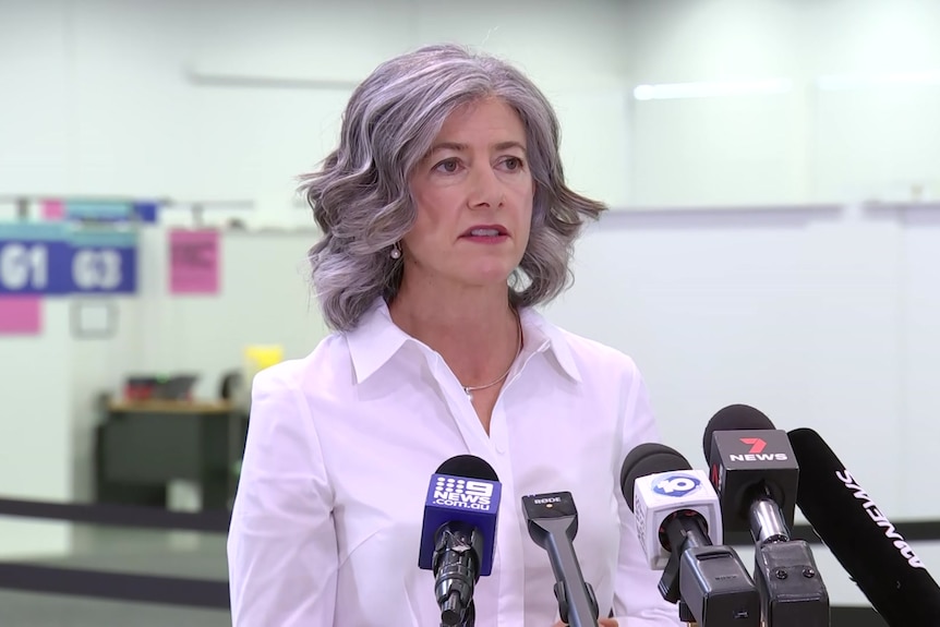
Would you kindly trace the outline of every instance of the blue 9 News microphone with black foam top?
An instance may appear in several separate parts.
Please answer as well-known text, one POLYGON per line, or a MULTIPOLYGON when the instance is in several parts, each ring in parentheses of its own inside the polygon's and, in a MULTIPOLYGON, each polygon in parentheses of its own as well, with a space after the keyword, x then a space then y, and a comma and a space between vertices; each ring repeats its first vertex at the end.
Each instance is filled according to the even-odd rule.
POLYGON ((431 475, 418 566, 434 574, 442 625, 473 625, 473 588, 493 571, 502 486, 493 467, 458 455, 431 475))

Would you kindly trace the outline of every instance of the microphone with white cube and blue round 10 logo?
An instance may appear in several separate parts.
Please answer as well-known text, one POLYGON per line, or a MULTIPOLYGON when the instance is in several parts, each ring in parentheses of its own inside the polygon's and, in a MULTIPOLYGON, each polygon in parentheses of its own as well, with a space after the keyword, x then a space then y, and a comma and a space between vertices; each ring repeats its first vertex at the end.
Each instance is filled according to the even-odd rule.
POLYGON ((620 489, 659 590, 679 604, 682 620, 701 626, 758 627, 760 596, 731 546, 722 541, 719 499, 706 472, 668 446, 646 443, 624 459, 620 489))

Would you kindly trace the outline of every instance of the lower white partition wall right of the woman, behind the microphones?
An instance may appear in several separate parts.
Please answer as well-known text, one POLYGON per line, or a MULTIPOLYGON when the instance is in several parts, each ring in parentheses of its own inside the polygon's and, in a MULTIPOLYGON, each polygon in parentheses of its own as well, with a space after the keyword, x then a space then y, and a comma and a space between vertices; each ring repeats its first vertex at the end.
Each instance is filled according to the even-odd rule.
POLYGON ((550 312, 635 357, 692 465, 709 419, 744 402, 819 431, 885 511, 933 516, 901 492, 902 238, 856 207, 611 214, 550 312))

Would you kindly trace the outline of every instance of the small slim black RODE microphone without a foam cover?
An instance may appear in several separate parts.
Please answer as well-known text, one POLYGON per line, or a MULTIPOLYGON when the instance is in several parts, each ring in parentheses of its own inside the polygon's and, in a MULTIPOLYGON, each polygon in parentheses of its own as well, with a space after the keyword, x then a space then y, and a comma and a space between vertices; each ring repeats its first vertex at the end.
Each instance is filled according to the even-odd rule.
POLYGON ((573 541, 578 534, 578 509, 570 492, 522 497, 532 541, 549 553, 555 575, 555 599, 562 622, 571 627, 598 627, 598 600, 585 582, 573 541))

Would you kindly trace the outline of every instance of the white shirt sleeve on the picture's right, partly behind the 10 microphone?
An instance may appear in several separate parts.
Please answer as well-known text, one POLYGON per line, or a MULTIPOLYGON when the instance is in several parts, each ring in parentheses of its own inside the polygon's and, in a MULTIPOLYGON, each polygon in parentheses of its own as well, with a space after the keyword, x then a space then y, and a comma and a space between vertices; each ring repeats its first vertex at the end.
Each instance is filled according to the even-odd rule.
MULTIPOLYGON (((659 442, 659 431, 650 409, 649 394, 642 376, 632 366, 625 401, 623 448, 617 463, 638 444, 659 442)), ((619 467, 615 477, 619 477, 619 467)), ((614 586, 614 614, 619 627, 675 627, 678 605, 663 600, 659 592, 661 571, 651 570, 637 538, 637 523, 624 495, 617 489, 620 517, 620 550, 614 586)))

